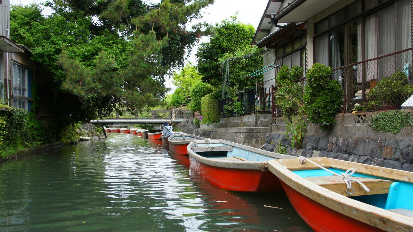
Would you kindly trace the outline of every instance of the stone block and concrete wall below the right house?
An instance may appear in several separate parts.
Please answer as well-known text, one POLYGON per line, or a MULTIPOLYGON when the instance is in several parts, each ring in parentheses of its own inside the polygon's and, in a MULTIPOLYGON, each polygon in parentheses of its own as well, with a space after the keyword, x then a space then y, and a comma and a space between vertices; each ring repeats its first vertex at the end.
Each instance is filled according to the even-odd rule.
POLYGON ((263 149, 276 151, 277 144, 282 144, 288 146, 288 155, 329 157, 413 172, 413 127, 404 127, 397 134, 375 132, 368 125, 371 115, 339 114, 335 126, 326 132, 308 123, 298 150, 291 147, 289 135, 285 138, 285 123, 277 118, 263 149))

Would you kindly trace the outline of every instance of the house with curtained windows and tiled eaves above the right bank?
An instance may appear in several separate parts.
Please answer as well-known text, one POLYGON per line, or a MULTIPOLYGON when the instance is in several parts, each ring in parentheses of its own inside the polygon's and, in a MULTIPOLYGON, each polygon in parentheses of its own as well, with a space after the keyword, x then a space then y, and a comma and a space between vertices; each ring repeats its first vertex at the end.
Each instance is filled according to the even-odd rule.
POLYGON ((263 67, 332 67, 351 105, 396 69, 413 83, 412 11, 411 0, 269 0, 252 44, 271 49, 263 67))

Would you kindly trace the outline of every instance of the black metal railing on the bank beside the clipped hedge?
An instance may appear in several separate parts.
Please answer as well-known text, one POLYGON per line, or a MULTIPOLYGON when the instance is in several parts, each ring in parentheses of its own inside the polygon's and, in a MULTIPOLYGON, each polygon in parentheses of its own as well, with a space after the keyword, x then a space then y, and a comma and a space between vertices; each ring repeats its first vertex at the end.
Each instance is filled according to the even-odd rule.
POLYGON ((232 104, 233 99, 223 98, 219 100, 221 117, 230 117, 235 115, 246 115, 251 113, 270 114, 271 113, 271 88, 250 88, 237 94, 238 101, 241 102, 239 111, 227 110, 225 105, 232 104))

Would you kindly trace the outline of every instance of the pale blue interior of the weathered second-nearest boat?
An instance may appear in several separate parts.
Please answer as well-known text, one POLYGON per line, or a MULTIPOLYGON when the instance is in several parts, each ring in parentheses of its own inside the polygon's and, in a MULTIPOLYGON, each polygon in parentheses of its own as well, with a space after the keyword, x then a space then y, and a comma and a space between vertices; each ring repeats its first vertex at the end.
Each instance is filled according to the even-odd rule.
MULTIPOLYGON (((197 146, 205 146, 205 144, 198 144, 197 146)), ((207 146, 230 146, 227 144, 207 144, 207 146)), ((256 153, 254 151, 248 151, 242 148, 238 147, 233 147, 232 151, 201 151, 201 152, 195 152, 198 155, 207 157, 207 158, 230 158, 237 156, 239 158, 246 159, 248 161, 258 161, 258 162, 263 162, 263 161, 268 161, 271 159, 274 159, 271 156, 268 155, 263 155, 260 153, 256 153)))

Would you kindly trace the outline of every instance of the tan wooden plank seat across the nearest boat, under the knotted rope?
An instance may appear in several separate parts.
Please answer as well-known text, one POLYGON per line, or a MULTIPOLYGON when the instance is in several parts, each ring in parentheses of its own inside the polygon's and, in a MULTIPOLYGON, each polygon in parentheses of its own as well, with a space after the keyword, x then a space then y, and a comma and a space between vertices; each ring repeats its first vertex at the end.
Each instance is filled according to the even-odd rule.
POLYGON ((322 177, 306 177, 306 180, 313 182, 319 186, 329 189, 335 193, 343 196, 362 196, 372 194, 387 194, 389 192, 390 184, 394 181, 386 179, 375 179, 366 177, 353 177, 357 179, 366 187, 370 189, 370 192, 366 192, 357 182, 352 181, 351 187, 354 189, 353 194, 349 195, 346 192, 347 185, 344 180, 339 176, 322 176, 322 177))

